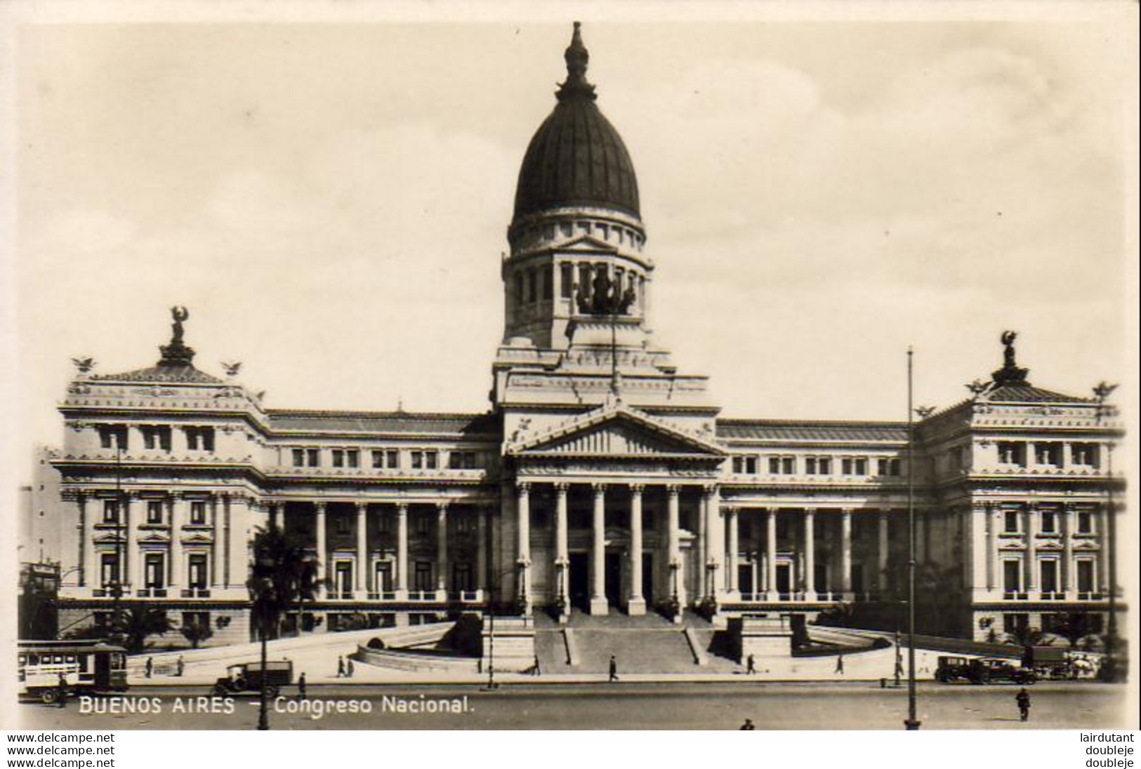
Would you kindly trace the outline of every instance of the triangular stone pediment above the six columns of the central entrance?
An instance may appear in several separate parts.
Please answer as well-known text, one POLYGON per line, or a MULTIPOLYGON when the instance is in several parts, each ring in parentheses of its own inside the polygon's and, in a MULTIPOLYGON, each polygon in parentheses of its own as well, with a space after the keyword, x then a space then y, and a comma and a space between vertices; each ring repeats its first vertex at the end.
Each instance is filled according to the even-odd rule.
POLYGON ((519 436, 508 446, 516 455, 718 458, 712 440, 621 404, 570 419, 553 429, 519 436))

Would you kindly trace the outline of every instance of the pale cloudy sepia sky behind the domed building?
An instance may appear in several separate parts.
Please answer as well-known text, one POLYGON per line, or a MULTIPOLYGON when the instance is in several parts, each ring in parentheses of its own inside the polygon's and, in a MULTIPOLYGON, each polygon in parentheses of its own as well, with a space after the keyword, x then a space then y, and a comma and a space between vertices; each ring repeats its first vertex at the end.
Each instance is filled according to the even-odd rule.
MULTIPOLYGON (((1135 25, 596 16, 654 338, 723 415, 906 419, 908 346, 947 406, 1006 329, 1039 387, 1132 375, 1135 25)), ((21 26, 23 445, 60 443, 72 357, 153 364, 172 305, 270 407, 486 410, 572 18, 21 26)))

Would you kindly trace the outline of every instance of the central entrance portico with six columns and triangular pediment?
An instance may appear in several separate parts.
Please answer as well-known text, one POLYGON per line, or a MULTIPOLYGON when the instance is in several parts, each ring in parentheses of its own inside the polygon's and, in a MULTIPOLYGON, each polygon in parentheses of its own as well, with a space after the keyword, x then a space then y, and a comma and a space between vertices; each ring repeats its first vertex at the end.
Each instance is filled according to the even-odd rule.
POLYGON ((505 455, 526 609, 640 615, 648 604, 715 597, 722 548, 707 543, 723 541, 722 448, 613 398, 520 436, 505 455))

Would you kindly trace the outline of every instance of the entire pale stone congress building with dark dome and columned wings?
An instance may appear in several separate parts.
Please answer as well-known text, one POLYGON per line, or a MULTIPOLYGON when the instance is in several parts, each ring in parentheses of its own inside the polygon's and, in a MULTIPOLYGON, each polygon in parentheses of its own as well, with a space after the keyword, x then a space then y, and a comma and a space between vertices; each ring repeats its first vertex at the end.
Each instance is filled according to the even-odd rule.
POLYGON ((1122 437, 1103 394, 1033 386, 1008 333, 988 380, 913 427, 720 418, 650 335, 637 178, 577 25, 565 58, 519 172, 489 408, 268 408, 237 366, 194 366, 175 308, 155 365, 76 362, 40 456, 26 531, 57 550, 60 628, 119 601, 249 640, 270 521, 317 561, 298 632, 488 608, 811 618, 897 602, 909 509, 947 632, 1103 615, 1122 437))

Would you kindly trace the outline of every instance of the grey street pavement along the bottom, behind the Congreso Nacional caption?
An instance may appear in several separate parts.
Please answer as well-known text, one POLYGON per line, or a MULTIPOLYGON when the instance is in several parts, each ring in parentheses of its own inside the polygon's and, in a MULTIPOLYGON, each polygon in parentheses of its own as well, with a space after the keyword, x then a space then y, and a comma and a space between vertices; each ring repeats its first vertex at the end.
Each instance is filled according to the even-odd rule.
MULTIPOLYGON (((1128 728, 1124 686, 1029 687, 1033 707, 1025 723, 1018 718, 1017 691, 1008 685, 923 682, 919 715, 925 729, 1128 728)), ((64 709, 22 705, 19 713, 27 729, 254 728, 257 699, 228 704, 208 694, 201 687, 133 687, 123 699, 91 701, 92 707, 120 712, 83 714, 72 701, 64 709), (121 712, 124 699, 137 701, 136 712, 121 712), (201 709, 219 712, 187 712, 201 709)), ((882 689, 866 681, 544 682, 504 683, 493 691, 475 685, 331 683, 309 686, 305 704, 297 701, 296 687, 289 694, 290 699, 273 704, 273 729, 736 729, 746 718, 758 729, 900 729, 907 712, 906 688, 882 689), (355 712, 318 715, 322 707, 355 712), (428 710, 444 712, 423 712, 428 710)))

